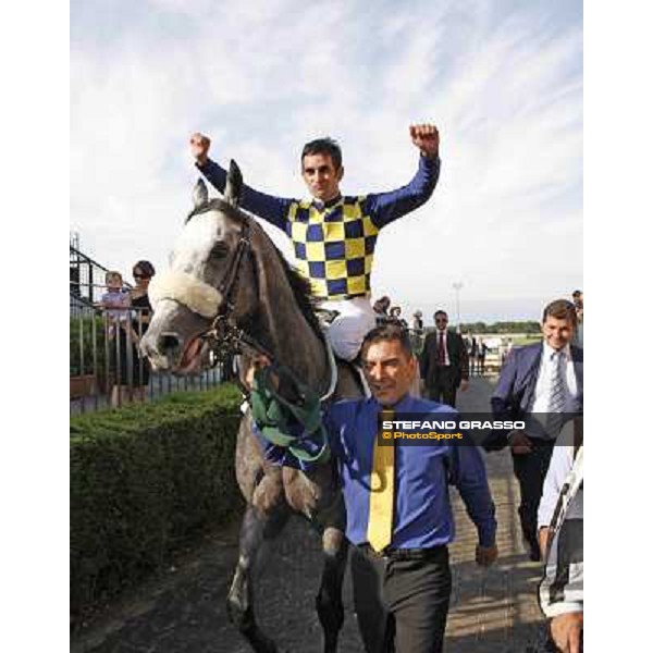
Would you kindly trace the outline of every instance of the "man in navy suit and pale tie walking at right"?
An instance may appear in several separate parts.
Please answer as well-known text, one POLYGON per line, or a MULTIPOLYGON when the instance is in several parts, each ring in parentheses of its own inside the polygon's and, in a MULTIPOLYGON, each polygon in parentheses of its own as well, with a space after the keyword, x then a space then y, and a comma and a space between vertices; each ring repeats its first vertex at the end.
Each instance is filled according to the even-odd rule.
POLYGON ((495 431, 484 447, 510 446, 521 494, 521 531, 532 560, 540 559, 538 506, 553 445, 564 421, 582 412, 582 349, 570 344, 576 326, 574 304, 549 304, 543 342, 510 352, 491 398, 494 419, 526 422, 523 430, 495 431))

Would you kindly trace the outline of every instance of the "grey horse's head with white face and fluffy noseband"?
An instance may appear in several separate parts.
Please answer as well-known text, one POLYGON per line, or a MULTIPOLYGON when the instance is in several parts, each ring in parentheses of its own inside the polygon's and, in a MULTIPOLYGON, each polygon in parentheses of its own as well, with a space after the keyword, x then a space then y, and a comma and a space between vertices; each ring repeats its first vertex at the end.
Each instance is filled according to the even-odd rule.
POLYGON ((198 371, 208 362, 201 337, 229 301, 233 319, 256 306, 256 281, 248 255, 251 220, 238 210, 243 177, 232 161, 224 200, 209 200, 199 180, 194 209, 170 257, 170 269, 149 286, 155 313, 141 342, 155 369, 198 371))

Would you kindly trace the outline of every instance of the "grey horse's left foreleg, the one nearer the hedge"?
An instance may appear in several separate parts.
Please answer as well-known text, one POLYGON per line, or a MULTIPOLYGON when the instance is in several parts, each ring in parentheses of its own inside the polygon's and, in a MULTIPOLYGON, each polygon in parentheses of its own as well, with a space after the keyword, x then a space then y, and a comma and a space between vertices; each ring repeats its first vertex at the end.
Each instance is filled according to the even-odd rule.
POLYGON ((257 653, 278 653, 274 642, 258 627, 254 614, 254 575, 263 540, 272 539, 287 519, 284 512, 266 514, 247 507, 241 527, 238 563, 226 597, 229 618, 257 653))

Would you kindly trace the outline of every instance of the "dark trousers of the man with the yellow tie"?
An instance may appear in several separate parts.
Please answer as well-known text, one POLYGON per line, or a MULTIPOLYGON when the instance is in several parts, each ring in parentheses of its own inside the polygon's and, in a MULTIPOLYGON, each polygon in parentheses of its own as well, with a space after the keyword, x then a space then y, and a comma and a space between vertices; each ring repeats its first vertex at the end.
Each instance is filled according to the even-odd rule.
POLYGON ((441 653, 452 593, 446 546, 420 559, 352 551, 354 607, 367 653, 441 653))

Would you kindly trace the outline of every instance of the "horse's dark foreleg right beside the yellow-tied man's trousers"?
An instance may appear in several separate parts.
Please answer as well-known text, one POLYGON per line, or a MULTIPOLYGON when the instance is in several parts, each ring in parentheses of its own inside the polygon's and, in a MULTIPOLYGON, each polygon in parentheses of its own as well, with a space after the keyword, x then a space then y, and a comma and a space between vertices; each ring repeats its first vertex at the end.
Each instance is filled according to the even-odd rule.
POLYGON ((343 578, 347 566, 347 551, 348 542, 344 533, 333 527, 325 528, 322 534, 324 565, 320 590, 316 596, 316 608, 324 631, 324 653, 336 651, 337 637, 345 619, 343 578))

